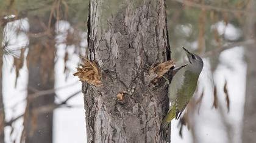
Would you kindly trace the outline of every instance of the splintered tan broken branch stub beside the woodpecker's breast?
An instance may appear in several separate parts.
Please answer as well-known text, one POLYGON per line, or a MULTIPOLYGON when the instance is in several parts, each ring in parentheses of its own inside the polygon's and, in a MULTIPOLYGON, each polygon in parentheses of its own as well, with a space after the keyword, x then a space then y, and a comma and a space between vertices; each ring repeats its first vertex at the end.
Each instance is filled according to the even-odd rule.
POLYGON ((149 76, 154 76, 154 79, 152 80, 153 83, 157 82, 159 78, 161 78, 171 67, 175 65, 175 61, 173 59, 160 63, 156 66, 152 66, 149 69, 149 76))

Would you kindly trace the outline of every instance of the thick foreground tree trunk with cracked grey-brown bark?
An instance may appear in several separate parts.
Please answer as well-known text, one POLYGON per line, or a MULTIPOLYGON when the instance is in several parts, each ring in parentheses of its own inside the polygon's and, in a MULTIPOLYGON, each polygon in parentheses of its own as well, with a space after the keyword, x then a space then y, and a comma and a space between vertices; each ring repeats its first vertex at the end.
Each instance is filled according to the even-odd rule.
POLYGON ((149 87, 145 76, 152 64, 170 58, 165 1, 91 0, 87 53, 102 72, 101 87, 82 84, 87 141, 165 142, 158 131, 167 90, 149 87))

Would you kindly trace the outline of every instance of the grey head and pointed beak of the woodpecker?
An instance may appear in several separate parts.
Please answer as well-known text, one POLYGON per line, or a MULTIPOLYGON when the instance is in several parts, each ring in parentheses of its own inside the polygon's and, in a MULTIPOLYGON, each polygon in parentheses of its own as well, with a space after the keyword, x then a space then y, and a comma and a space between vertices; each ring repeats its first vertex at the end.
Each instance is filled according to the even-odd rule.
POLYGON ((200 56, 189 52, 186 48, 183 47, 183 50, 185 50, 187 56, 188 56, 188 61, 190 62, 190 64, 192 65, 193 68, 195 68, 194 70, 198 70, 199 73, 202 71, 202 67, 204 66, 204 62, 202 61, 202 59, 200 58, 200 56))

